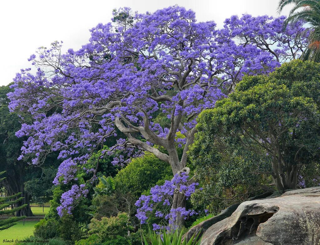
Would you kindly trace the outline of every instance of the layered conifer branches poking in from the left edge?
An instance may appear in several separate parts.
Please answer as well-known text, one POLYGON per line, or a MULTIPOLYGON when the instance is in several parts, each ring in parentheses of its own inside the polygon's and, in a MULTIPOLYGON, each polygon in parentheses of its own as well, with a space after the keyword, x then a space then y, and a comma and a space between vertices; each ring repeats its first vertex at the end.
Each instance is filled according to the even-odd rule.
MULTIPOLYGON (((0 176, 3 175, 5 171, 0 172, 0 176)), ((2 182, 4 178, 0 178, 0 182, 2 182)), ((25 208, 27 204, 24 204, 22 206, 16 207, 11 209, 10 207, 14 204, 17 204, 22 201, 23 197, 19 197, 21 193, 16 193, 14 195, 6 196, 6 197, 0 197, 0 216, 8 216, 8 215, 14 215, 16 212, 20 211, 21 209, 25 208)), ((12 225, 16 225, 17 221, 25 218, 25 216, 20 217, 10 217, 0 220, 0 231, 8 229, 12 225)))

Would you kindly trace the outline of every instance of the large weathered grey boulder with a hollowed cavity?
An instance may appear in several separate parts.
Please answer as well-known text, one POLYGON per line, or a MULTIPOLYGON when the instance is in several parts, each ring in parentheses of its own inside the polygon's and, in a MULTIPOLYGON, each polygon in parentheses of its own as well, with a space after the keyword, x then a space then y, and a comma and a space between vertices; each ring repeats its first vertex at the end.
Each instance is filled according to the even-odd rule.
POLYGON ((241 203, 201 245, 320 245, 320 187, 241 203))

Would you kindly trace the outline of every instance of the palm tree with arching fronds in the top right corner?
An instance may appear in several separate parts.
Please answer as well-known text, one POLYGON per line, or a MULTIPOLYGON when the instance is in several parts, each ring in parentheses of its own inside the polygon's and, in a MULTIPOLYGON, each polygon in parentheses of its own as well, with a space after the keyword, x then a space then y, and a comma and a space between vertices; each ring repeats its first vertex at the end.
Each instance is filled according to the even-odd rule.
POLYGON ((320 62, 320 0, 280 0, 278 12, 289 4, 294 6, 285 21, 285 27, 299 20, 304 20, 309 25, 306 31, 309 32, 310 44, 301 59, 320 62))

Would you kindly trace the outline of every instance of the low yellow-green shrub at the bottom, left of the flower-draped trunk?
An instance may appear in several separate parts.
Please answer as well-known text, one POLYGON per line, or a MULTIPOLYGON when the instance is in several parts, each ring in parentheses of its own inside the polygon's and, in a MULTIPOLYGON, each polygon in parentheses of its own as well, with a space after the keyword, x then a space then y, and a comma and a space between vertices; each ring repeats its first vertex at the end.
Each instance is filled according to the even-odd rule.
POLYGON ((100 241, 116 239, 117 236, 124 237, 131 230, 132 226, 126 213, 118 213, 116 217, 102 217, 101 220, 92 218, 89 224, 89 234, 97 234, 100 241))

